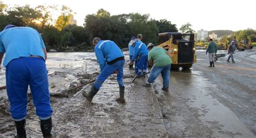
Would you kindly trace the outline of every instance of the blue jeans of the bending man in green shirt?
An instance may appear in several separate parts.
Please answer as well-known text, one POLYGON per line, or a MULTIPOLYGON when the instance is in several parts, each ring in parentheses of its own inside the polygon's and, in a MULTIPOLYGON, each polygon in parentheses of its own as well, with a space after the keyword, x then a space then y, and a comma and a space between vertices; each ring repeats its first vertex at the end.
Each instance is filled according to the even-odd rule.
POLYGON ((168 64, 164 67, 153 66, 153 68, 150 71, 150 76, 149 79, 147 79, 147 82, 153 83, 157 76, 161 73, 161 76, 163 78, 164 89, 168 89, 170 81, 170 71, 171 64, 168 64))

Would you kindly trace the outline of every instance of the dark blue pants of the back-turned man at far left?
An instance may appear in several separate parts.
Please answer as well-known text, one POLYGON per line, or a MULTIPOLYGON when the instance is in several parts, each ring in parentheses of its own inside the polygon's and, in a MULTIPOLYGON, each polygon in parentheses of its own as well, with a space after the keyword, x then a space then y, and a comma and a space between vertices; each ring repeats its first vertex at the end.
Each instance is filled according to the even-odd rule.
POLYGON ((28 85, 39 119, 46 120, 51 117, 48 74, 43 58, 19 57, 14 59, 6 66, 5 75, 11 117, 15 121, 26 118, 28 85))

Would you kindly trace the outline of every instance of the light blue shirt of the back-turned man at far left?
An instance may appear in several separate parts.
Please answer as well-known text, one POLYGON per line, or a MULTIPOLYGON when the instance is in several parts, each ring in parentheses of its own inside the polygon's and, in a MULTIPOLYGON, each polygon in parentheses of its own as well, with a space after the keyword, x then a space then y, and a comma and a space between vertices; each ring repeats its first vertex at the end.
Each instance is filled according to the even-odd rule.
POLYGON ((3 65, 11 60, 30 55, 44 56, 41 35, 31 27, 12 27, 0 34, 0 52, 5 52, 3 65))

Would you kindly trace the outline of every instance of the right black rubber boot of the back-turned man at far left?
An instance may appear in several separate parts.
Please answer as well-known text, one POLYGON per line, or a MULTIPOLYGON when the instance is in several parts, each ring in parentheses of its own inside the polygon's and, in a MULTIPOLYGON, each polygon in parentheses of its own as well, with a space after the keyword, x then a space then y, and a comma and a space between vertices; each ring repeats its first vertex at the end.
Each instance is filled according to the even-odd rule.
POLYGON ((40 126, 44 137, 55 137, 56 133, 51 130, 52 121, 51 118, 46 120, 40 120, 40 126))

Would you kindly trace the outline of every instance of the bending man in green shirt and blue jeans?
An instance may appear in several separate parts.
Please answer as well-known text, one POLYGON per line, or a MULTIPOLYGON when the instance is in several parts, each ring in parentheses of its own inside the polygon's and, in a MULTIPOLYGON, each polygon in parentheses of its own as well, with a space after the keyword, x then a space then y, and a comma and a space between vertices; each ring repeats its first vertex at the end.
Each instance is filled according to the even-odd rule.
POLYGON ((169 88, 169 79, 170 79, 170 70, 172 60, 167 52, 162 47, 156 47, 153 43, 149 43, 147 48, 150 50, 149 52, 149 64, 152 67, 149 75, 149 79, 147 79, 146 84, 143 86, 151 86, 151 83, 157 78, 157 76, 161 73, 163 78, 163 91, 168 91, 169 88))

